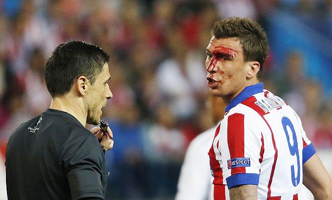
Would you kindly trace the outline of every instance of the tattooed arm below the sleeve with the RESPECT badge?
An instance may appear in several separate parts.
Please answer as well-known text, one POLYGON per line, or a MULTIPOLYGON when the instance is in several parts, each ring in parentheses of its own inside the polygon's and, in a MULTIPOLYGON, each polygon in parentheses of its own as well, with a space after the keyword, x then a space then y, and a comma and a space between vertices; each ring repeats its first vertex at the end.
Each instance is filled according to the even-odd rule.
POLYGON ((257 200, 256 185, 242 185, 229 190, 230 200, 257 200))

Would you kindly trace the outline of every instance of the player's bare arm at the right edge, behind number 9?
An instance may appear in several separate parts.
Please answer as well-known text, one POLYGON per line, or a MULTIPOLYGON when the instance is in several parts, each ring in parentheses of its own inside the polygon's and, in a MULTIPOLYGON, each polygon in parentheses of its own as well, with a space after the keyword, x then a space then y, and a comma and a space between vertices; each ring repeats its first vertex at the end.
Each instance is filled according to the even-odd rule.
POLYGON ((315 200, 332 200, 332 181, 321 159, 315 153, 303 164, 303 184, 315 200))

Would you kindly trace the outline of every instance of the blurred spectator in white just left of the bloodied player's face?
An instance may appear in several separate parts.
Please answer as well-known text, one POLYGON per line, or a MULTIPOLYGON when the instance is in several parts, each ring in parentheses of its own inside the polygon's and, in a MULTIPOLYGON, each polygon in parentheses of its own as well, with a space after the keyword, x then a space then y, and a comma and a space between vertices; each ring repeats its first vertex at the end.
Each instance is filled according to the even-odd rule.
POLYGON ((185 120, 197 109, 195 95, 203 96, 207 90, 204 57, 186 48, 178 28, 168 33, 167 41, 172 57, 157 68, 156 78, 173 115, 185 120))

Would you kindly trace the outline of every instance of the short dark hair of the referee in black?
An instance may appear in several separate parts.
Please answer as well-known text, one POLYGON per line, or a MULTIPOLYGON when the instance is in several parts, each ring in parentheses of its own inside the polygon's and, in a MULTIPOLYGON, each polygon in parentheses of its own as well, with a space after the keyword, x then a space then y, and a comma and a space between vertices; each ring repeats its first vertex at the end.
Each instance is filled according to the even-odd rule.
POLYGON ((81 75, 91 84, 103 69, 110 56, 93 44, 70 40, 55 48, 45 69, 47 89, 52 97, 61 96, 71 89, 74 81, 81 75))

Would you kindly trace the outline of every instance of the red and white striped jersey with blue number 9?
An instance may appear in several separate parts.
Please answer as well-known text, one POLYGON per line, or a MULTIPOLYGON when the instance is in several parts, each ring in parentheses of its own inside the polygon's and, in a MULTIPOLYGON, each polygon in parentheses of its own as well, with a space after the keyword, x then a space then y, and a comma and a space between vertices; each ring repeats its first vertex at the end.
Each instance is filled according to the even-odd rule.
POLYGON ((295 111, 263 83, 246 87, 226 107, 209 151, 213 200, 257 185, 259 200, 297 200, 302 165, 315 149, 295 111))

